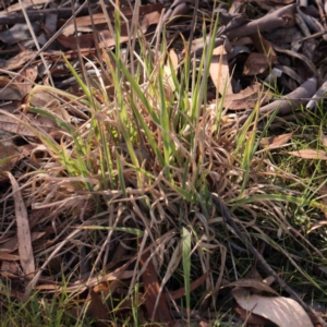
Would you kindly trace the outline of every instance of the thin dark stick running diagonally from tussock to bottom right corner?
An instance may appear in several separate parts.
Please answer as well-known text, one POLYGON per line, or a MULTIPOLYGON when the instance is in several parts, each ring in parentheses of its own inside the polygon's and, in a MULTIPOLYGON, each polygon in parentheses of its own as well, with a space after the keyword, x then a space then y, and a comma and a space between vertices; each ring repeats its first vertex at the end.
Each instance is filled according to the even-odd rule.
POLYGON ((291 295, 311 316, 315 317, 317 319, 317 322, 319 322, 319 324, 323 327, 327 327, 327 324, 324 322, 324 319, 322 317, 319 317, 312 310, 312 307, 310 305, 307 305, 306 303, 303 302, 303 300, 301 299, 301 296, 299 296, 299 294, 296 292, 294 292, 279 277, 279 275, 267 264, 267 262, 258 253, 258 251, 256 251, 256 249, 251 244, 251 242, 249 242, 247 238, 244 237, 244 234, 240 231, 240 229, 238 228, 237 223, 234 222, 234 220, 230 216, 227 206, 220 199, 220 197, 218 195, 215 195, 215 194, 211 193, 211 198, 213 198, 213 203, 215 204, 215 206, 220 210, 221 216, 222 216, 225 222, 228 223, 234 230, 234 232, 238 235, 238 238, 243 242, 243 244, 246 246, 246 249, 249 250, 249 252, 251 252, 253 254, 253 256, 256 258, 256 261, 258 262, 258 264, 264 268, 264 270, 266 271, 266 274, 268 276, 272 276, 275 278, 275 280, 279 283, 279 286, 282 289, 284 289, 289 293, 289 295, 291 295))

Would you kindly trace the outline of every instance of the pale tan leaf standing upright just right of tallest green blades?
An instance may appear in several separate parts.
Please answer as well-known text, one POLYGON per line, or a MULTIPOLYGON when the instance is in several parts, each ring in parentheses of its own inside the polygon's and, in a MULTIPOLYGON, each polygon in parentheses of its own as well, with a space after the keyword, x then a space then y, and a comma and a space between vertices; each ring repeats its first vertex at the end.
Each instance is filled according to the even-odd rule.
POLYGON ((209 73, 220 95, 233 94, 231 77, 229 74, 229 64, 223 45, 214 49, 209 73))

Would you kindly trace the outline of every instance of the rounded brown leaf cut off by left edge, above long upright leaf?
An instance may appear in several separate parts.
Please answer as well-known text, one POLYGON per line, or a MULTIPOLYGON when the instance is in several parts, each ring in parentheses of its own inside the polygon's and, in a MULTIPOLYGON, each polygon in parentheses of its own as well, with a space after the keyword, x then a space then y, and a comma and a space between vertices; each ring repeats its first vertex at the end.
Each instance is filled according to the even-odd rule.
POLYGON ((19 150, 12 140, 0 141, 0 181, 8 180, 7 171, 11 171, 19 159, 19 150))

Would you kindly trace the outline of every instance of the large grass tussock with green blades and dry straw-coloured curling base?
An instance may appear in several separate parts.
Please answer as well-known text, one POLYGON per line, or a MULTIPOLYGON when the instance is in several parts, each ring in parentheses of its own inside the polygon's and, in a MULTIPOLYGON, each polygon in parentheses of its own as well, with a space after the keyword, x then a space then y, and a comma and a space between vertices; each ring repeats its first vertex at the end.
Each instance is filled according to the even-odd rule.
MULTIPOLYGON (((116 24, 119 28, 119 20, 116 24)), ((325 186, 320 166, 304 168, 293 159, 295 167, 282 153, 262 150, 270 121, 257 130, 257 110, 240 126, 235 114, 207 102, 214 43, 199 63, 185 56, 175 69, 165 37, 160 47, 135 39, 138 51, 117 48, 102 51, 102 61, 88 61, 96 77, 81 78, 64 59, 78 94, 35 86, 28 96, 26 112, 58 130, 46 133, 22 113, 21 123, 35 133, 33 168, 17 182, 37 272, 3 295, 5 326, 23 320, 87 326, 95 301, 89 290, 96 287, 114 326, 145 324, 152 317, 140 311, 146 292, 142 276, 149 264, 159 294, 184 287, 185 298, 171 302, 177 318, 219 313, 217 320, 228 324, 230 300, 220 288, 249 276, 255 263, 213 204, 213 193, 288 283, 323 299, 325 281, 312 271, 326 265, 325 237, 311 231, 326 209, 316 191, 317 184, 325 186), (56 110, 34 105, 43 94, 56 99, 56 110), (296 174, 303 169, 312 175, 296 174), (204 275, 191 292, 192 281, 204 275), (21 304, 24 296, 29 301, 21 304)), ((9 240, 13 193, 1 203, 2 240, 9 240)))

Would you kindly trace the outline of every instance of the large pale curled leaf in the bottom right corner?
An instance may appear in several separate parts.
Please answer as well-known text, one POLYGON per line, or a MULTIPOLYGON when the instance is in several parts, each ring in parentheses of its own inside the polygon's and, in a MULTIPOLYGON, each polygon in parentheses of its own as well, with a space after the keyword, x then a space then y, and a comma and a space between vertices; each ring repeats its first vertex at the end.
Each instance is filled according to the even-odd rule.
POLYGON ((233 289, 232 295, 242 308, 263 316, 279 327, 313 327, 303 307, 292 299, 251 295, 242 288, 233 289))

